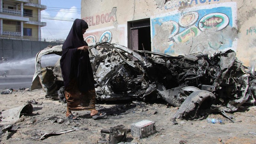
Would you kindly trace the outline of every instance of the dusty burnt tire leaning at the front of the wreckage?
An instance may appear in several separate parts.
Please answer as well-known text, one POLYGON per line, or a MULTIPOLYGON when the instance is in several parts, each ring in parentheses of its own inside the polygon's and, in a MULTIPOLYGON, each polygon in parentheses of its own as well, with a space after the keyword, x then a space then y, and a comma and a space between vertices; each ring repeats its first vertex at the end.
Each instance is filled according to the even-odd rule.
POLYGON ((199 107, 210 107, 215 99, 215 95, 209 91, 195 91, 191 93, 180 105, 179 110, 173 115, 172 119, 175 120, 176 118, 186 117, 187 115, 189 115, 190 118, 194 118, 196 117, 196 113, 199 107))

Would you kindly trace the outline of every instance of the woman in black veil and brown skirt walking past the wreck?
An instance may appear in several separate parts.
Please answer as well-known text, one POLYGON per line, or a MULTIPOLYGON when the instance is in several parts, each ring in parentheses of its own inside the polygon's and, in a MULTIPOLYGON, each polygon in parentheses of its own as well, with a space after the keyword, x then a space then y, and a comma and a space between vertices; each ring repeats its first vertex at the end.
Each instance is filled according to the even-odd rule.
POLYGON ((73 26, 62 46, 60 68, 67 99, 69 119, 77 119, 71 110, 91 110, 94 119, 104 117, 106 113, 95 109, 95 88, 92 65, 89 59, 88 44, 83 34, 88 24, 83 19, 75 19, 73 26))

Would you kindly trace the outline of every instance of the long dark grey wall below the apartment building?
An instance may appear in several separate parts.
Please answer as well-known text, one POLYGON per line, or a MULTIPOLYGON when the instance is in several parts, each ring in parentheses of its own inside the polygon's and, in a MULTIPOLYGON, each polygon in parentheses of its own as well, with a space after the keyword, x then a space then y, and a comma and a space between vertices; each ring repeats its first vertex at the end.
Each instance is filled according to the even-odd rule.
POLYGON ((40 50, 47 48, 49 45, 61 44, 56 42, 0 39, 0 57, 8 57, 9 60, 27 59, 36 57, 40 50))

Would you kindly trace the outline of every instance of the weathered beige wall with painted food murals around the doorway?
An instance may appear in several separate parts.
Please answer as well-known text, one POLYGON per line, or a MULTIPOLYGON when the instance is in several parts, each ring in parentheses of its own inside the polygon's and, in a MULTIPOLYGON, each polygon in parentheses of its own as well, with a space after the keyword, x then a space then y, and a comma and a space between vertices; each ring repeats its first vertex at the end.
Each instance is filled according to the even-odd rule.
POLYGON ((150 18, 151 50, 173 56, 233 49, 245 65, 256 56, 253 0, 82 0, 90 42, 127 46, 127 22, 150 18))

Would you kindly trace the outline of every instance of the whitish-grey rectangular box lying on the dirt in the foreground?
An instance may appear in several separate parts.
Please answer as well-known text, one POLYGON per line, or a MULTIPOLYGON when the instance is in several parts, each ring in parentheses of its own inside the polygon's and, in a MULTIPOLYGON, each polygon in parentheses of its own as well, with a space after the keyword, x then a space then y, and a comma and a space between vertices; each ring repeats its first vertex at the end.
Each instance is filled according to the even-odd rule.
POLYGON ((131 133, 133 137, 145 138, 156 133, 156 124, 150 120, 141 120, 131 124, 131 133))

